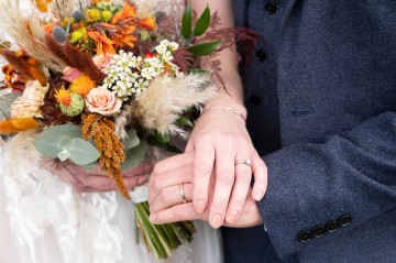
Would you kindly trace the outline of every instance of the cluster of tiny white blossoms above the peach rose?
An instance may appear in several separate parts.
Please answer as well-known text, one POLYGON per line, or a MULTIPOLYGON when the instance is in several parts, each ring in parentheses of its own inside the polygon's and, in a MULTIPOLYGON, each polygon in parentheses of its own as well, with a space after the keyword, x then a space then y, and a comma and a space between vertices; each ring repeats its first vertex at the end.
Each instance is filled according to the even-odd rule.
POLYGON ((102 72, 107 75, 102 88, 112 90, 117 97, 127 99, 129 96, 138 96, 150 85, 150 81, 160 74, 170 70, 178 76, 179 68, 173 64, 173 53, 178 44, 163 40, 155 47, 156 56, 134 56, 133 53, 120 51, 113 55, 110 63, 102 72))

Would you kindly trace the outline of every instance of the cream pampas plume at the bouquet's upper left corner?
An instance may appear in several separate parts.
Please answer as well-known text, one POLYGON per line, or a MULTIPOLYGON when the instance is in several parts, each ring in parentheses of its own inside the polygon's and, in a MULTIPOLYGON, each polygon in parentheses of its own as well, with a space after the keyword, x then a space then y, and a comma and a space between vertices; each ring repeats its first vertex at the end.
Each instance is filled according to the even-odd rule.
POLYGON ((35 57, 46 67, 56 72, 65 68, 65 63, 54 56, 47 48, 44 37, 45 30, 43 28, 42 14, 32 7, 21 9, 20 0, 1 0, 0 24, 6 34, 8 34, 14 43, 24 50, 30 56, 35 57), (29 19, 26 19, 26 14, 29 19))

